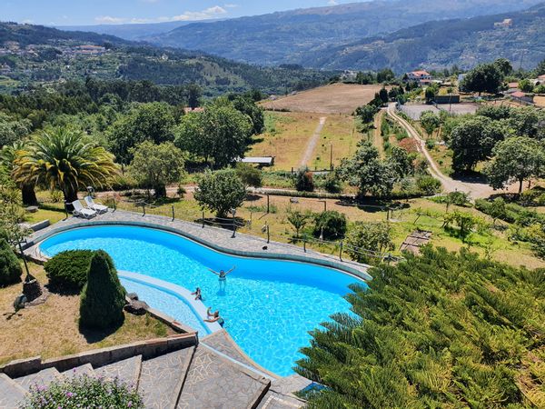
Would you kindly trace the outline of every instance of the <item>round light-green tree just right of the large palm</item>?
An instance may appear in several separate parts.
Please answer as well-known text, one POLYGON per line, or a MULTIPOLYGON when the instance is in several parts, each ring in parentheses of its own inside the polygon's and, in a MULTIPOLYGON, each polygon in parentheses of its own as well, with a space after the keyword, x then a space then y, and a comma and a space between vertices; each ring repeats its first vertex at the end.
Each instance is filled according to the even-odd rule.
POLYGON ((129 166, 138 184, 154 189, 156 198, 166 196, 166 185, 177 183, 183 175, 183 152, 172 142, 155 145, 145 141, 136 145, 131 155, 133 162, 129 166))

